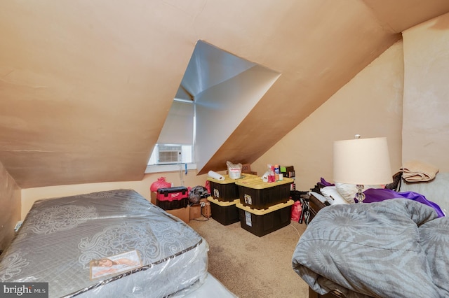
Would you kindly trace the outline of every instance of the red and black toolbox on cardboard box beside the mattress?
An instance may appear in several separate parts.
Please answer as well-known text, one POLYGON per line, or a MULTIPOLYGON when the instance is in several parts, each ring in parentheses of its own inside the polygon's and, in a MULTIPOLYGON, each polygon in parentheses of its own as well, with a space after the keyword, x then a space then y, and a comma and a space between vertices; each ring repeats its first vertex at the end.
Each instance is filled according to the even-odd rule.
POLYGON ((189 204, 189 192, 185 186, 158 188, 156 206, 163 210, 185 208, 189 204))

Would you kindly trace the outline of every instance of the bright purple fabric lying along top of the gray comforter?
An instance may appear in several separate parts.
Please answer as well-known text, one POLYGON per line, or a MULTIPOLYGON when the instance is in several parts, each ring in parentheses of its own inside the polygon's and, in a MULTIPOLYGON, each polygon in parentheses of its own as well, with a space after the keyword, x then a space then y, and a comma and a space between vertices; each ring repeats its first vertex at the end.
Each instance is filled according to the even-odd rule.
POLYGON ((368 188, 363 192, 366 196, 363 203, 373 203, 375 201, 384 201, 386 199, 413 199, 413 201, 419 201, 420 203, 434 208, 438 214, 438 218, 443 218, 444 213, 441 211, 440 206, 429 201, 422 194, 417 192, 395 192, 394 190, 388 190, 387 188, 368 188))

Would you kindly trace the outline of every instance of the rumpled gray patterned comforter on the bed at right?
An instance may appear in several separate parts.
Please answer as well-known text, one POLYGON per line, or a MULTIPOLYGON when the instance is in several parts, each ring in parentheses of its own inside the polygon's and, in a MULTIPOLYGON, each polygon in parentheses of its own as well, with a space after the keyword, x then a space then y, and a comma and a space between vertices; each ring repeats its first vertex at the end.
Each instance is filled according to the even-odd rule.
POLYGON ((321 209, 293 253, 320 294, 449 297, 449 218, 409 199, 321 209))

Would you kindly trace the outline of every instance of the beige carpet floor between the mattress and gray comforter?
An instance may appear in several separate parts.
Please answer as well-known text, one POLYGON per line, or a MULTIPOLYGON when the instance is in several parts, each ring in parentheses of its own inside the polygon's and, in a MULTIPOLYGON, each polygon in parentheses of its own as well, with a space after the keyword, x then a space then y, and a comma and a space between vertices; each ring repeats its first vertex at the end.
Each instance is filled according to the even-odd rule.
MULTIPOLYGON (((240 298, 307 298, 308 286, 292 269, 292 255, 306 225, 291 222, 262 237, 213 218, 189 225, 209 244, 208 271, 240 298)), ((211 296, 213 297, 213 296, 211 296)))

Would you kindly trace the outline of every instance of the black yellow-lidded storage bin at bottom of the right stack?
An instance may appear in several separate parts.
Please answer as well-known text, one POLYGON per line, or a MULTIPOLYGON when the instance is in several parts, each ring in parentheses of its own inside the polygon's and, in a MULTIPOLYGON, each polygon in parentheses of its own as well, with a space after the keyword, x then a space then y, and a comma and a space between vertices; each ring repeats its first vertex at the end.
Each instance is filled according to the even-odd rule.
POLYGON ((236 204, 239 210, 240 224, 243 229, 262 237, 281 227, 290 225, 293 200, 276 204, 264 210, 251 209, 240 203, 236 204))

